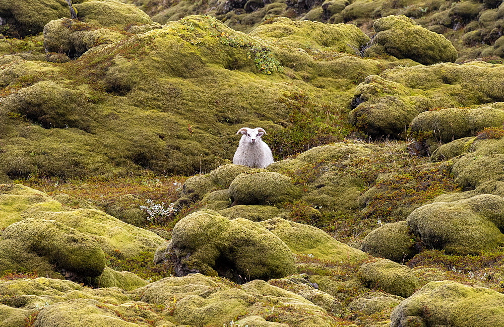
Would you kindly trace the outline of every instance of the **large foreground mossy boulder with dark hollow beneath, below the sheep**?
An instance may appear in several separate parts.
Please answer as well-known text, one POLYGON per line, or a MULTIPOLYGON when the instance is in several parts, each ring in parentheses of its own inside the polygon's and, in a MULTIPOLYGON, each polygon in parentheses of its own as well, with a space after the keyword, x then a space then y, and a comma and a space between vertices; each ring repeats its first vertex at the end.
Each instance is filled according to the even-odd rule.
POLYGON ((280 278, 295 273, 292 252, 263 226, 247 219, 229 220, 203 209, 182 218, 156 262, 169 260, 177 276, 200 272, 236 283, 280 278), (163 253, 164 252, 164 253, 163 253))

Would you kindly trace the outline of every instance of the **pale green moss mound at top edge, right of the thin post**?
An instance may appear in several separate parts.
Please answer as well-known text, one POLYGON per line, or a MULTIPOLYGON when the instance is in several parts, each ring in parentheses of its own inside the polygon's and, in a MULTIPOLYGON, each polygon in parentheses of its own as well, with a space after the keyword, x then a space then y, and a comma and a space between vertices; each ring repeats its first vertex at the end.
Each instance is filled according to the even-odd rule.
POLYGON ((129 24, 152 24, 150 17, 133 5, 116 0, 87 1, 75 4, 77 17, 102 27, 124 28, 129 24))

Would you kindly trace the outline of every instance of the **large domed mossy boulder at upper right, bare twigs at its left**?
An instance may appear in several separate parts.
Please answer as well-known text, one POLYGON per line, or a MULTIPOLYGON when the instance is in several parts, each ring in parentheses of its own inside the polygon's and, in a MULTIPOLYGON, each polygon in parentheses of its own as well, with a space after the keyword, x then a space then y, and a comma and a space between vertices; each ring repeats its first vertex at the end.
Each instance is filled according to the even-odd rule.
POLYGON ((431 32, 404 15, 387 16, 373 24, 376 35, 365 55, 385 50, 396 58, 410 58, 422 64, 455 62, 457 50, 445 36, 431 32), (380 49, 380 50, 378 50, 380 49))

